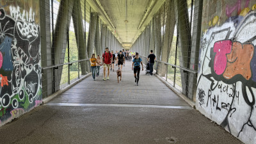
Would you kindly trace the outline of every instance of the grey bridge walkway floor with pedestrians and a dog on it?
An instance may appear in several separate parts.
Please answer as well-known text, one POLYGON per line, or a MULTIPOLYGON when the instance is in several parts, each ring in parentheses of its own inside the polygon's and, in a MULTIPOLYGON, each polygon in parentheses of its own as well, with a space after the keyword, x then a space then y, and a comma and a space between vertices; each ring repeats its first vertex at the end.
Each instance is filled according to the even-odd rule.
POLYGON ((156 76, 141 71, 136 86, 131 64, 120 83, 113 71, 102 81, 101 70, 3 125, 0 143, 241 143, 156 76))

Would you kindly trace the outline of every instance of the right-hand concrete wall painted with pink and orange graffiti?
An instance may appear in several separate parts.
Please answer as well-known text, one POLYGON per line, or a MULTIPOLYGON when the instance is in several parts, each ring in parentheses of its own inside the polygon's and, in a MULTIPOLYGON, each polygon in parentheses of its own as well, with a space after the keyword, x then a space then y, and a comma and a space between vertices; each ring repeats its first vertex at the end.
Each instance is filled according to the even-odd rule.
POLYGON ((204 1, 196 108, 256 143, 256 1, 204 1))

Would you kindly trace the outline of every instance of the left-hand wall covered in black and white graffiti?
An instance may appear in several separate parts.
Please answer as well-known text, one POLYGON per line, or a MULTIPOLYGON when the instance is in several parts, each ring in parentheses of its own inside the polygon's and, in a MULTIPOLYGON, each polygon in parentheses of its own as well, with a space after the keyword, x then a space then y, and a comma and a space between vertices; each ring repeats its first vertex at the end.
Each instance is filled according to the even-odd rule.
POLYGON ((0 1, 0 125, 42 102, 39 1, 0 1))

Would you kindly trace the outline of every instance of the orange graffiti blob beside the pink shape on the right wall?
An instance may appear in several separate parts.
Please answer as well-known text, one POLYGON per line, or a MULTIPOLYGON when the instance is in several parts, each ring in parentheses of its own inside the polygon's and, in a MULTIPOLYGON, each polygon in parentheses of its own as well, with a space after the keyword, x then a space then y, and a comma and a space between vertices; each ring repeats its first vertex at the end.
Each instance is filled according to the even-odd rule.
POLYGON ((223 77, 231 79, 237 74, 241 74, 244 79, 252 77, 250 62, 253 57, 254 47, 252 44, 241 44, 233 42, 230 54, 227 54, 227 67, 223 77))

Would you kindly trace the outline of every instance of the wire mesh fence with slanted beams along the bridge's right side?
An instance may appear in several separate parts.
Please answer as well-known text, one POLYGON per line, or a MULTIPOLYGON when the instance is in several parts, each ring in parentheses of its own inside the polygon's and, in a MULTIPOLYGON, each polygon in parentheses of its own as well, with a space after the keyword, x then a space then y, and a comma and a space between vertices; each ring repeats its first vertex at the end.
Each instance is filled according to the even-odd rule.
POLYGON ((131 48, 145 65, 153 50, 157 76, 194 101, 202 4, 202 0, 165 1, 131 48))

